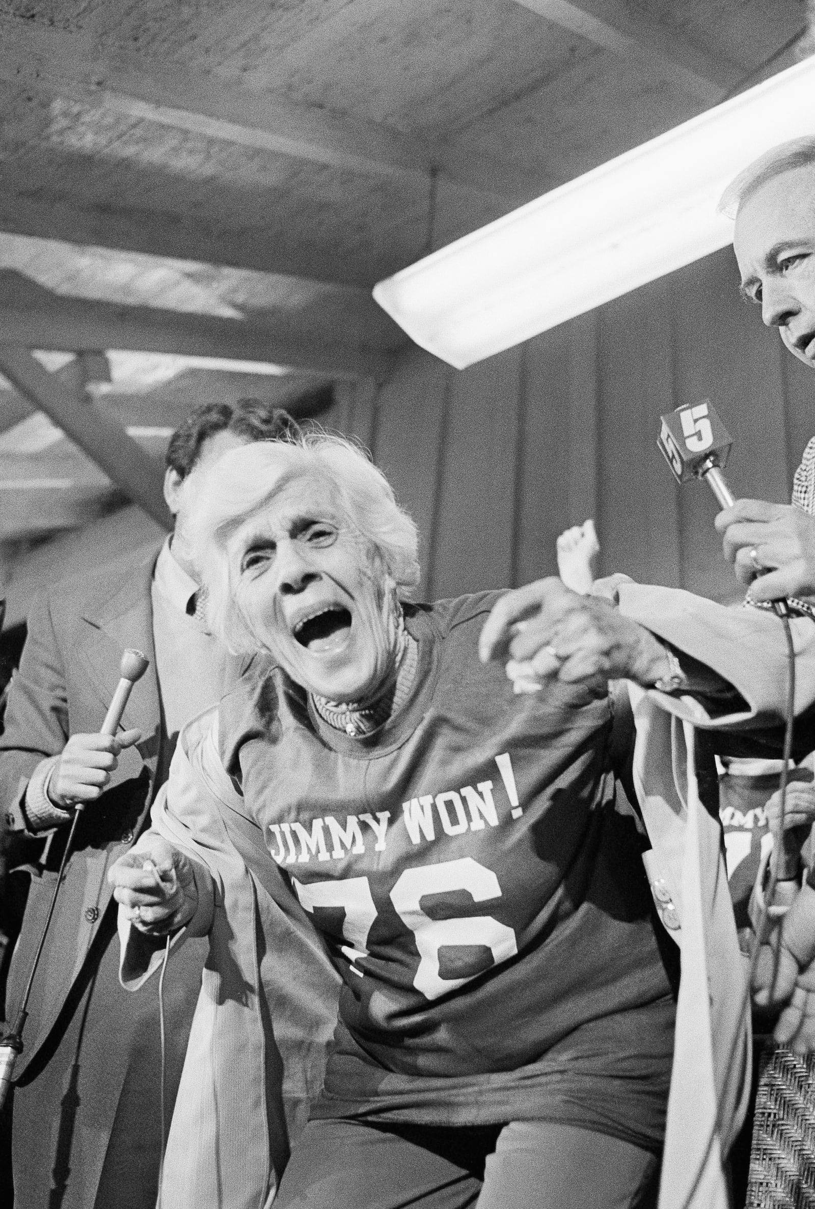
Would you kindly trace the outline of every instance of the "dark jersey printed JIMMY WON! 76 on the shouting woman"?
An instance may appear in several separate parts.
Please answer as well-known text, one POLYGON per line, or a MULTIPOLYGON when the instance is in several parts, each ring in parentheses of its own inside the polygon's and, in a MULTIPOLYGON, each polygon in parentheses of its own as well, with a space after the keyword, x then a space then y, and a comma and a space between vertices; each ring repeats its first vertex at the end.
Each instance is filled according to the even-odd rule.
POLYGON ((343 978, 330 1111, 434 1120, 447 1097, 452 1120, 501 1120, 493 1097, 528 1115, 548 1055, 666 1088, 672 1003, 608 699, 515 695, 478 659, 496 598, 406 606, 412 696, 366 740, 268 665, 221 702, 224 765, 343 978))

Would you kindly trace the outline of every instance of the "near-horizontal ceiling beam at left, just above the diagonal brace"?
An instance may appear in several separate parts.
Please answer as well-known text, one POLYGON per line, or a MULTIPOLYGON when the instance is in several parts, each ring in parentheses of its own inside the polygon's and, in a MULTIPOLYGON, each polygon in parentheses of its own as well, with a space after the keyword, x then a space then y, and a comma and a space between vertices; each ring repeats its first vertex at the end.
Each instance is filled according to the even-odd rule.
POLYGON ((65 352, 122 348, 150 353, 271 361, 333 378, 382 381, 393 353, 330 345, 285 332, 278 323, 245 322, 187 311, 120 306, 59 297, 45 306, 0 302, 0 342, 65 352))

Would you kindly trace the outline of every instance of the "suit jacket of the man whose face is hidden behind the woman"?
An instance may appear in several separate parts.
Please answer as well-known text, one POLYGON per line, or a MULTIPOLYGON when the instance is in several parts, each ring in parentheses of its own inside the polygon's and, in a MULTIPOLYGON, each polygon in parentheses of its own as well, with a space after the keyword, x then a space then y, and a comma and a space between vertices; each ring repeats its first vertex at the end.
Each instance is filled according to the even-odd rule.
MULTIPOLYGON (((111 899, 108 869, 144 829, 169 767, 172 752, 162 724, 150 596, 158 550, 151 544, 94 574, 60 583, 36 602, 28 619, 28 640, 10 688, 0 737, 4 809, 24 796, 40 760, 59 753, 69 735, 99 730, 120 679, 126 648, 144 652, 150 666, 134 684, 122 716, 122 728, 138 727, 141 739, 122 752, 108 789, 86 809, 77 826, 75 850, 29 1001, 17 1081, 24 1077, 71 989, 86 973, 111 899)), ((238 667, 236 660, 236 675, 238 667)), ((10 1022, 28 978, 67 832, 67 827, 58 828, 31 864, 25 918, 8 974, 10 1022)))

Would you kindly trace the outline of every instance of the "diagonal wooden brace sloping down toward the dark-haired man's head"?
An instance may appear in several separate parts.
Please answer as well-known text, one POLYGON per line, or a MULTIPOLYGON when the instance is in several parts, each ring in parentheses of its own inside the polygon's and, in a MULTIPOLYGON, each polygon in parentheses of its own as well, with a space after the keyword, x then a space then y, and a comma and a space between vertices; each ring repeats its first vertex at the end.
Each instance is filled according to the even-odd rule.
POLYGON ((0 372, 33 407, 45 411, 134 504, 172 530, 162 468, 121 424, 83 395, 67 389, 27 348, 0 345, 0 372))

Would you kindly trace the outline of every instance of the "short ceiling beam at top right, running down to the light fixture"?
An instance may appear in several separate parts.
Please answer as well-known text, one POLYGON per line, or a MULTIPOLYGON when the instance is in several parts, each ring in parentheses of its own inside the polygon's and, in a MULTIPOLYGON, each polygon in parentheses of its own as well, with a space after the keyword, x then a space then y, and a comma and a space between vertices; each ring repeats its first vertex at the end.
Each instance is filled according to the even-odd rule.
POLYGON ((514 0, 562 29, 630 59, 710 105, 738 83, 744 69, 622 0, 514 0))

